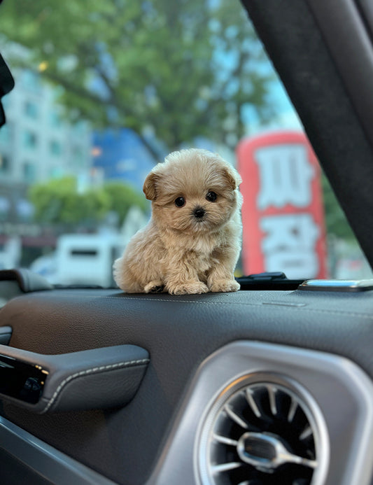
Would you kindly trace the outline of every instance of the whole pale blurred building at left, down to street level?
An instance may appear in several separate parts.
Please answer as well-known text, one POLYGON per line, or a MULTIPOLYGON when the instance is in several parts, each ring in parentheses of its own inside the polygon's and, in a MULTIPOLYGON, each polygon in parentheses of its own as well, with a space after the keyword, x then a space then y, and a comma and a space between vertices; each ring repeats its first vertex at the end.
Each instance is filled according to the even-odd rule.
POLYGON ((55 244, 51 232, 32 222, 29 187, 68 175, 87 179, 92 131, 87 122, 71 125, 64 118, 58 87, 27 69, 12 73, 15 88, 3 97, 6 125, 0 129, 0 246, 20 238, 22 258, 9 263, 13 266, 27 264, 41 248, 55 244))

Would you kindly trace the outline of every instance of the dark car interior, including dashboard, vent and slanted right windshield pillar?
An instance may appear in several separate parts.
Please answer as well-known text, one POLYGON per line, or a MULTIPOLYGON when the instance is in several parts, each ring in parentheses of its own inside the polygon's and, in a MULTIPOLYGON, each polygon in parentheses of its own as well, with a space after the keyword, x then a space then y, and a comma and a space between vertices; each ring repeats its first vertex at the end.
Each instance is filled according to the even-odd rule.
MULTIPOLYGON (((373 3, 242 8, 372 266, 373 3)), ((1 271, 1 484, 373 484, 373 280, 238 281, 126 294, 1 271)))

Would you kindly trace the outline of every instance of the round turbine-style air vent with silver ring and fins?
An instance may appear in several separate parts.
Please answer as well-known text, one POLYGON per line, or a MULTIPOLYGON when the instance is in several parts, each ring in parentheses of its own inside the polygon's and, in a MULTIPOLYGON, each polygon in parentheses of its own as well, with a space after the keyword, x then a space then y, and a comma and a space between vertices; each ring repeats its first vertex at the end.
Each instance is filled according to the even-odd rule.
POLYGON ((294 389, 244 377, 220 393, 197 444, 203 485, 319 483, 316 421, 294 389))

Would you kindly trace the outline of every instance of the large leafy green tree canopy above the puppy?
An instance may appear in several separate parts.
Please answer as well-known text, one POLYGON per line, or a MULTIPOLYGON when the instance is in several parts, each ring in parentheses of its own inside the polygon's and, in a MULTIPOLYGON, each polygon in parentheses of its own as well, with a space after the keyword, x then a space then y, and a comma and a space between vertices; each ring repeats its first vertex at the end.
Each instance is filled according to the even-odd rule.
POLYGON ((155 157, 196 136, 234 148, 248 108, 274 114, 262 47, 239 2, 17 0, 1 31, 29 49, 8 59, 61 85, 70 118, 128 127, 155 157), (147 134, 152 134, 149 137, 147 134))

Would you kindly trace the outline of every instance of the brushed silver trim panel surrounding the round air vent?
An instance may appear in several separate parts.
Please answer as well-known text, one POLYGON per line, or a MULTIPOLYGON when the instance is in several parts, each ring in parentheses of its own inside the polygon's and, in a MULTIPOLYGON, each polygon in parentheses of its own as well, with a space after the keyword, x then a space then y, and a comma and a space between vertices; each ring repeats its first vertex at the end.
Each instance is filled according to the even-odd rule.
MULTIPOLYGON (((368 485, 372 476, 373 384, 355 363, 343 357, 277 344, 238 341, 227 344, 199 367, 181 407, 164 454, 146 485, 201 484, 199 436, 217 396, 244 374, 281 373, 302 383, 321 414, 323 446, 330 454, 326 470, 313 484, 368 485), (202 416, 202 419, 201 419, 202 416), (325 478, 326 475, 326 478, 325 478)), ((297 384, 295 384, 297 386, 297 384)), ((311 407, 315 411, 315 406, 311 407)))

